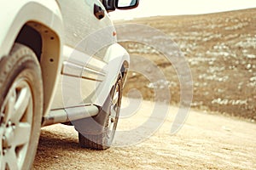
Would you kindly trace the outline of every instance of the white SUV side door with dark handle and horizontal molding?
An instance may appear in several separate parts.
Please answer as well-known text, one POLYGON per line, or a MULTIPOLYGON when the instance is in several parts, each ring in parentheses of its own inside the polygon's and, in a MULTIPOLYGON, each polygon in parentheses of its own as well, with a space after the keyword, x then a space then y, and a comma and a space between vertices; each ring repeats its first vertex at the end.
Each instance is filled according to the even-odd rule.
POLYGON ((57 0, 65 26, 61 78, 52 110, 90 105, 104 80, 108 47, 116 42, 108 13, 98 0, 57 0))

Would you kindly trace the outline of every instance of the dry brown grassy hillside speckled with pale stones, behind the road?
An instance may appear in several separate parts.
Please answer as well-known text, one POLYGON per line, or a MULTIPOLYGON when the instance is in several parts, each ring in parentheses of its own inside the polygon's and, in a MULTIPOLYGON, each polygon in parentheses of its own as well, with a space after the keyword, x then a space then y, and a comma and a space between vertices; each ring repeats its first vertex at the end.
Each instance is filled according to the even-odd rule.
MULTIPOLYGON (((256 8, 219 14, 157 16, 119 23, 152 26, 177 42, 194 82, 193 108, 256 120, 256 8)), ((166 73, 172 103, 179 103, 179 82, 172 65, 155 50, 122 43, 131 54, 151 59, 166 73)), ((137 65, 136 63, 134 65, 137 65)), ((137 88, 153 100, 146 78, 130 72, 125 93, 137 88)))

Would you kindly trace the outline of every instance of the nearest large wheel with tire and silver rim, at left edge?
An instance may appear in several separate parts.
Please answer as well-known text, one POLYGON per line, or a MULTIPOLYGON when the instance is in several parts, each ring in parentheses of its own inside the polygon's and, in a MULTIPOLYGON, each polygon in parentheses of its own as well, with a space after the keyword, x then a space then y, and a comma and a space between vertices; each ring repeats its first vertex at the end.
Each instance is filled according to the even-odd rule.
POLYGON ((19 43, 0 60, 0 106, 0 167, 31 169, 43 113, 43 83, 36 55, 19 43))

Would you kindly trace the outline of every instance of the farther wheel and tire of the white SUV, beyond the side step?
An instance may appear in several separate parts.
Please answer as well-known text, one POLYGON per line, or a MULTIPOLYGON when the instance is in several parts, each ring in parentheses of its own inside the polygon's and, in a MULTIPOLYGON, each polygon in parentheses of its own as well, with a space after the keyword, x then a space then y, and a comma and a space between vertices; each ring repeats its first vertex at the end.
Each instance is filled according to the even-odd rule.
MULTIPOLYGON (((113 143, 122 99, 123 82, 118 78, 97 116, 79 120, 79 144, 92 150, 107 150, 113 143)), ((78 125, 78 126, 77 126, 78 125)))

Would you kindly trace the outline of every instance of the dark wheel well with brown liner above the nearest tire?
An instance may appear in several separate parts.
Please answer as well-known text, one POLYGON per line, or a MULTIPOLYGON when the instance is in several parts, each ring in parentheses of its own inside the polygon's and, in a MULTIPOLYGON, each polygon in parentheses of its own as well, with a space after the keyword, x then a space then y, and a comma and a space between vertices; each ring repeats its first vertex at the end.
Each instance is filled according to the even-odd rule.
POLYGON ((26 45, 37 55, 44 83, 44 113, 49 111, 61 67, 61 40, 55 31, 34 21, 27 22, 15 42, 26 45))

